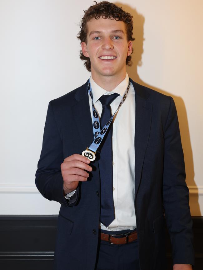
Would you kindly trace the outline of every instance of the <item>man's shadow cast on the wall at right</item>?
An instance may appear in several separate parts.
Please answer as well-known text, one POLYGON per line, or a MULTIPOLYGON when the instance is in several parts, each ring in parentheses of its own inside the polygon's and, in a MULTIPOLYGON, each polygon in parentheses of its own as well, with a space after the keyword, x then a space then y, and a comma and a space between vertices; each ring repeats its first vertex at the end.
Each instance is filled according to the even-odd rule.
MULTIPOLYGON (((194 181, 194 165, 193 165, 193 156, 192 156, 192 148, 190 141, 190 133, 189 126, 187 120, 187 112, 184 101, 181 97, 174 96, 173 94, 164 91, 163 89, 156 88, 156 86, 149 85, 141 80, 137 73, 137 67, 142 65, 142 53, 143 43, 144 43, 144 22, 145 18, 142 14, 139 14, 136 9, 133 9, 129 5, 123 4, 121 2, 116 2, 116 5, 123 7, 123 9, 129 12, 133 16, 133 37, 135 41, 133 42, 133 54, 132 56, 132 66, 127 67, 127 73, 131 79, 136 81, 141 85, 144 85, 148 88, 154 89, 164 95, 171 96, 174 99, 176 104, 180 132, 181 132, 181 141, 184 152, 184 159, 186 165, 186 182, 188 186, 196 187, 196 183, 194 181)), ((156 64, 156 63, 155 63, 156 64)), ((192 196, 192 212, 195 213, 195 216, 201 216, 200 206, 198 203, 198 194, 190 194, 190 198, 192 196)))

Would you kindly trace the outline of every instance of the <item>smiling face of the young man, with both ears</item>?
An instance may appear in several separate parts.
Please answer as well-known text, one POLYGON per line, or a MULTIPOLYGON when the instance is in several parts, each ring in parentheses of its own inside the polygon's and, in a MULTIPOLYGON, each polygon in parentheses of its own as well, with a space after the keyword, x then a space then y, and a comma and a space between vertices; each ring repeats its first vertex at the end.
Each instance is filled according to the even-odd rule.
POLYGON ((82 53, 90 58, 92 78, 126 76, 126 57, 132 53, 132 41, 127 40, 126 25, 115 19, 91 19, 87 22, 87 44, 82 53))

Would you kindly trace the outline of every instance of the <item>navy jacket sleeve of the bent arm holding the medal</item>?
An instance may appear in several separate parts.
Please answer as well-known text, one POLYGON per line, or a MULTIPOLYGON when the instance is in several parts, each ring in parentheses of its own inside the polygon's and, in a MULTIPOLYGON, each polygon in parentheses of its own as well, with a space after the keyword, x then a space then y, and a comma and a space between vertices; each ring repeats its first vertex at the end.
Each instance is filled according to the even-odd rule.
POLYGON ((77 202, 77 191, 71 200, 67 200, 63 196, 63 178, 61 173, 61 163, 63 160, 62 138, 54 117, 51 101, 47 110, 42 151, 37 165, 35 183, 42 196, 48 200, 58 201, 65 206, 73 206, 77 202))

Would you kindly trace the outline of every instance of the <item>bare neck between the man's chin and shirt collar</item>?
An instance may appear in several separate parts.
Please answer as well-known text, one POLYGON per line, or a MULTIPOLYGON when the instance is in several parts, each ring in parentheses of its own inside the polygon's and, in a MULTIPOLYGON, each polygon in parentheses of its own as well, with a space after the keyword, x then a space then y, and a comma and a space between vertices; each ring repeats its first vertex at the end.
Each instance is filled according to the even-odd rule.
POLYGON ((96 74, 92 74, 92 79, 101 86, 106 91, 112 91, 126 78, 126 72, 122 76, 97 76, 96 74))

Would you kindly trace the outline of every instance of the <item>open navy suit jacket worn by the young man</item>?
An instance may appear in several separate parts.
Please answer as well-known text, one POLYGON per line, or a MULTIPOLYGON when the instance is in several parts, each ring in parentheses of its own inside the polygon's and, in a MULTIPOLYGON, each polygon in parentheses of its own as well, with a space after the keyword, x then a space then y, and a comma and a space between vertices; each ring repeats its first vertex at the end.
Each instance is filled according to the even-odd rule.
MULTIPOLYGON (((173 263, 194 264, 189 192, 174 101, 131 82, 136 100, 135 212, 141 270, 165 269, 165 219, 173 263)), ((66 157, 81 154, 93 139, 87 83, 49 103, 36 185, 45 198, 61 203, 57 270, 95 267, 100 224, 98 161, 91 163, 92 173, 80 183, 73 204, 63 197, 60 168, 66 157)))

